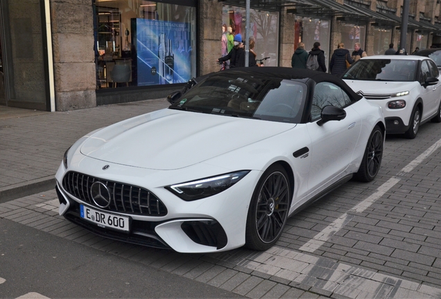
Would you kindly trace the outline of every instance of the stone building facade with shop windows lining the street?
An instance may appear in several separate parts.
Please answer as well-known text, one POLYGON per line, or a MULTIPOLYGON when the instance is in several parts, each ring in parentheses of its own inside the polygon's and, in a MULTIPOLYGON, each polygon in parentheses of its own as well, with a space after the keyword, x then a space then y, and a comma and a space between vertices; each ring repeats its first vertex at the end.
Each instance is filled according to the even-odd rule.
MULTIPOLYGON (((0 0, 0 105, 68 111, 166 96, 219 71, 234 35, 254 39, 257 59, 291 66, 299 42, 367 55, 441 46, 440 3, 410 0, 0 0), (247 30, 248 29, 248 30, 247 30)), ((245 42, 245 41, 244 41, 245 42)))

